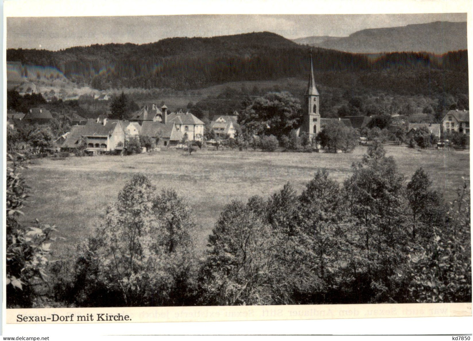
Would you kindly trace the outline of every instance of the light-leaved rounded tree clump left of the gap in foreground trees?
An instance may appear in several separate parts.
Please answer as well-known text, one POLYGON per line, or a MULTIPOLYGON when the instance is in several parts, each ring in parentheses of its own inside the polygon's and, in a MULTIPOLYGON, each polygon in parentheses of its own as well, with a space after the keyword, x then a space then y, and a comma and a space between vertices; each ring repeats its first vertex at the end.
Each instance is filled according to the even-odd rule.
POLYGON ((78 306, 189 304, 194 224, 174 191, 135 175, 107 208, 94 236, 78 245, 72 288, 78 306))

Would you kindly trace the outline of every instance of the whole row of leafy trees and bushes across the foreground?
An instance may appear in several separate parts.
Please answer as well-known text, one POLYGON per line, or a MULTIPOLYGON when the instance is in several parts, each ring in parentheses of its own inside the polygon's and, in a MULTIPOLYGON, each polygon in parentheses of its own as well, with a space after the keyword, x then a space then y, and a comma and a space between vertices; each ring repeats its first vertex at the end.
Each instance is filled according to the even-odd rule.
POLYGON ((203 254, 185 199, 134 175, 91 236, 33 263, 25 250, 34 242, 46 259, 52 227, 18 223, 23 184, 8 174, 9 307, 471 301, 467 183, 446 204, 424 169, 406 179, 379 144, 342 185, 318 170, 300 194, 288 183, 232 201, 203 254), (42 281, 50 290, 38 301, 42 281))

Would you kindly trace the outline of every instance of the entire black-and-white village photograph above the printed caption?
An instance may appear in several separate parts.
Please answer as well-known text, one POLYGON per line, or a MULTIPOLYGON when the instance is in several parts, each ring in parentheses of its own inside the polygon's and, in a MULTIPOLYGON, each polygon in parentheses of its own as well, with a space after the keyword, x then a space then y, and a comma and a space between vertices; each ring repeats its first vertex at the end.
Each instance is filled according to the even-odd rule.
POLYGON ((471 302, 466 19, 7 17, 7 308, 471 302))

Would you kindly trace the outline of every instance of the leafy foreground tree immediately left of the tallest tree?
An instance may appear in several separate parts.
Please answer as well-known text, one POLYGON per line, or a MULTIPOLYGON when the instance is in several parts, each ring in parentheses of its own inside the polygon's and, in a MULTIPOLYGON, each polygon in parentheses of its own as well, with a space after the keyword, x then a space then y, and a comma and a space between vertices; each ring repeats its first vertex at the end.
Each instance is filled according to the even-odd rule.
POLYGON ((306 269, 311 283, 307 303, 333 302, 334 289, 342 284, 337 277, 349 259, 344 237, 350 219, 342 191, 326 171, 318 171, 301 193, 299 202, 300 244, 304 246, 300 266, 306 269))

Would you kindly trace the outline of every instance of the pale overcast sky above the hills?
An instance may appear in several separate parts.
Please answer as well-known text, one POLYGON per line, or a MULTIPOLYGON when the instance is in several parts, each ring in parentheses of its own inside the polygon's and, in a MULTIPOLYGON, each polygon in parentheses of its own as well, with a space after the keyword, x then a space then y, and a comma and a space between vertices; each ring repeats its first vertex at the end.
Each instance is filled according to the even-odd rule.
POLYGON ((60 50, 91 44, 144 44, 169 37, 210 37, 260 31, 274 32, 289 39, 311 35, 347 36, 365 28, 438 20, 466 21, 466 14, 9 17, 7 48, 60 50))

